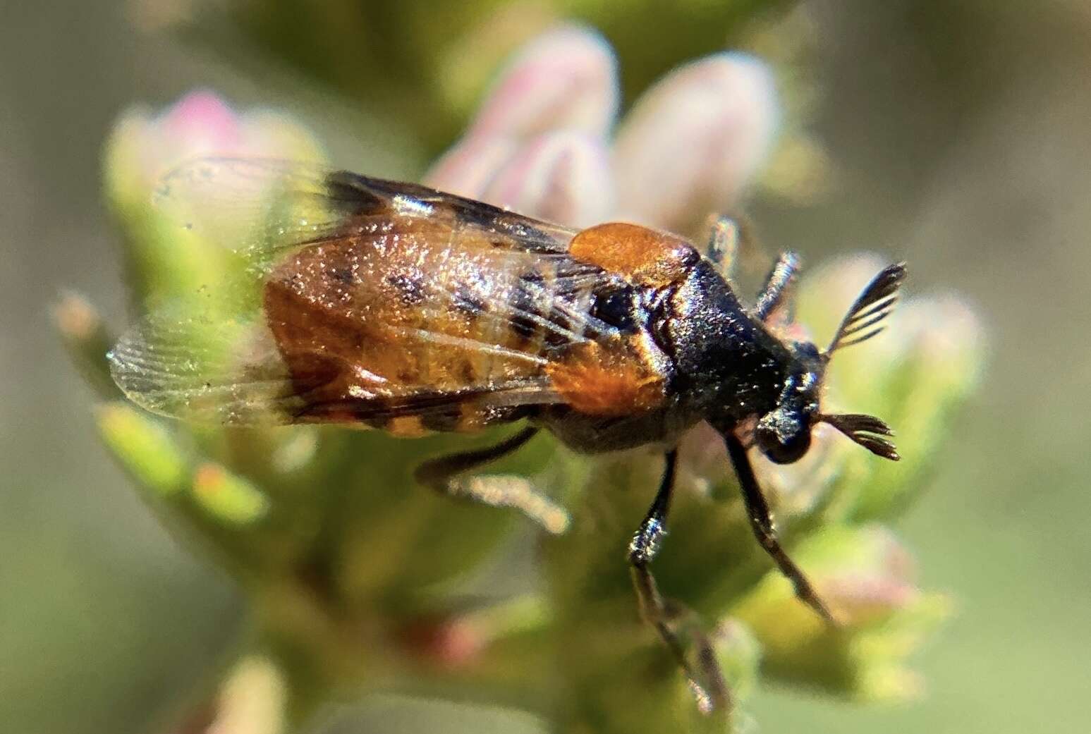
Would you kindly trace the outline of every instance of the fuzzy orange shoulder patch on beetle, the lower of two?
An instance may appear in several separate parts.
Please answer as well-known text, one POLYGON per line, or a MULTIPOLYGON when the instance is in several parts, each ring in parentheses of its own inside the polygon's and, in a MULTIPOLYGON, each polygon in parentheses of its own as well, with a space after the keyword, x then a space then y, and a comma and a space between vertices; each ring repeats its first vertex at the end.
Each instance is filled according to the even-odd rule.
POLYGON ((564 401, 590 416, 628 416, 650 410, 663 400, 663 376, 631 342, 619 349, 587 342, 547 368, 564 401))

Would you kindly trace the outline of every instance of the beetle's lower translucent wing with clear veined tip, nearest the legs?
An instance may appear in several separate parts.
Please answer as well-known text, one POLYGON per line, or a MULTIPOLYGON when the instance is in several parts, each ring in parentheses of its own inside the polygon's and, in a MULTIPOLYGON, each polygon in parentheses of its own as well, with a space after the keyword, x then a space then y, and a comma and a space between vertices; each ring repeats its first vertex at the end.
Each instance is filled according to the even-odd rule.
MULTIPOLYGON (((449 417, 452 407, 465 404, 488 410, 556 399, 536 375, 444 389, 392 385, 360 364, 327 352, 291 354, 297 364, 308 359, 313 360, 312 369, 293 374, 291 362, 260 322, 170 311, 146 317, 109 353, 115 381, 134 402, 153 412, 195 421, 383 426, 407 416, 439 420, 449 417)), ((479 426, 471 421, 460 428, 479 426)))

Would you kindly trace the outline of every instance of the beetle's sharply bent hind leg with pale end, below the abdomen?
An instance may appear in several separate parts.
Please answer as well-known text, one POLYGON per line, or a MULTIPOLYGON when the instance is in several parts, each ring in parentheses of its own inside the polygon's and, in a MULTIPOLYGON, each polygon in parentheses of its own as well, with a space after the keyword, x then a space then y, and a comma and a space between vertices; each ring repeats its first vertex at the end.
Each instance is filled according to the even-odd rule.
POLYGON ((428 459, 417 467, 413 477, 421 484, 442 494, 473 500, 493 507, 512 507, 551 533, 564 532, 568 527, 568 514, 535 491, 533 485, 523 477, 458 477, 507 456, 530 441, 536 433, 537 428, 528 426, 495 446, 428 459))

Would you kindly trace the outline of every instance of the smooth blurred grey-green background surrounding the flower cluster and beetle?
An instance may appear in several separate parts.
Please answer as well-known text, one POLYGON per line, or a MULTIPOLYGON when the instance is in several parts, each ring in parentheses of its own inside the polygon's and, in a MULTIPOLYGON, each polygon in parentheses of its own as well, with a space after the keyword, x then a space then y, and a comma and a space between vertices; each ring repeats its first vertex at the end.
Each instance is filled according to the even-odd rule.
MULTIPOLYGON (((228 580, 167 537, 97 444, 91 393, 50 324, 65 288, 87 294, 111 323, 125 320, 99 194, 100 145, 118 113, 208 86, 239 107, 291 111, 349 168, 413 177, 428 159, 379 103, 335 103, 277 69, 157 31, 176 4, 3 7, 3 732, 158 731, 193 681, 226 660, 238 630, 228 580)), ((1091 8, 853 0, 803 9, 802 36, 780 23, 764 37, 772 47, 805 41, 815 85, 808 124, 826 146, 830 179, 815 201, 757 202, 765 240, 812 263, 861 248, 904 257, 915 292, 952 289, 975 302, 992 349, 933 490, 900 526, 924 580, 949 589, 959 607, 921 655, 925 696, 859 708, 763 690, 748 711, 767 732, 1082 731, 1091 683, 1091 8)), ((400 700, 345 712, 328 729, 459 723, 533 730, 526 718, 400 700)))

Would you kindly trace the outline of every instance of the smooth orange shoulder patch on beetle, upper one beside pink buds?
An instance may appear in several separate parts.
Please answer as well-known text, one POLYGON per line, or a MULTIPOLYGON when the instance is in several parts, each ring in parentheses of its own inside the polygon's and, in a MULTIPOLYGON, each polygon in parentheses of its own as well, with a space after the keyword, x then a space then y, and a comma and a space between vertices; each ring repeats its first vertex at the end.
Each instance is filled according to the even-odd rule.
POLYGON ((661 287, 685 276, 700 255, 674 234, 622 221, 597 225, 573 238, 573 258, 640 285, 661 287))

